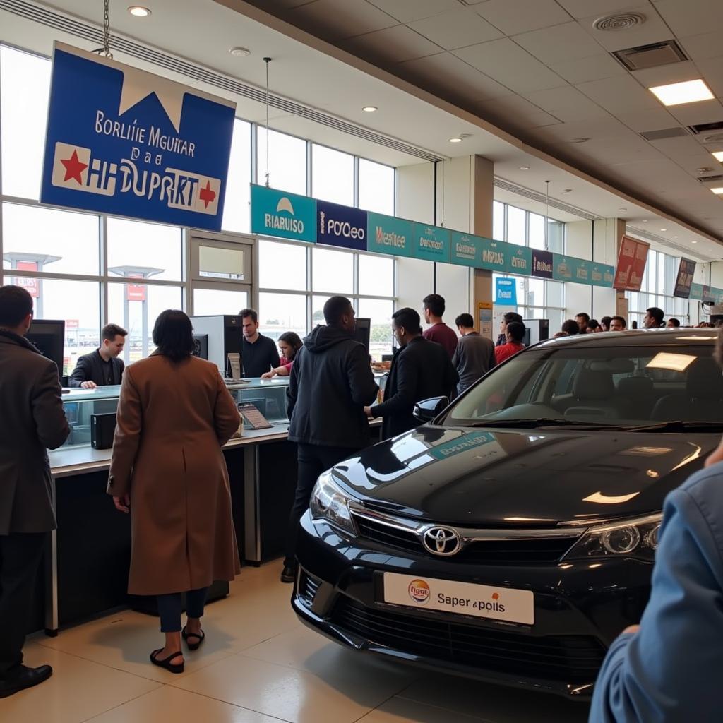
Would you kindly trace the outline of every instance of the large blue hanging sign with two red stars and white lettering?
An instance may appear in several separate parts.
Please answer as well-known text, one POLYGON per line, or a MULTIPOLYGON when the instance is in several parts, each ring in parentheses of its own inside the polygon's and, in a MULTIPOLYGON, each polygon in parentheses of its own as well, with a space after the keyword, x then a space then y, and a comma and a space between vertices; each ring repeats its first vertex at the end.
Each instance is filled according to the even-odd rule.
POLYGON ((40 201, 220 231, 235 111, 56 43, 40 201))

